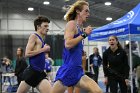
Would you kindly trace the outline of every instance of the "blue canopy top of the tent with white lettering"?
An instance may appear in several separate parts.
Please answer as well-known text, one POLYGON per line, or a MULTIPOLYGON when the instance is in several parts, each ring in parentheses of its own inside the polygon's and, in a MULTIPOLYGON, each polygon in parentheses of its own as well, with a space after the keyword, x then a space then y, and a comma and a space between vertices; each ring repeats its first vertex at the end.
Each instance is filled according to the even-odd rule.
POLYGON ((88 40, 94 41, 104 41, 110 35, 115 35, 121 40, 129 40, 129 36, 135 35, 136 37, 131 37, 131 40, 140 41, 140 4, 138 4, 134 9, 124 15, 122 18, 111 22, 105 26, 93 29, 92 33, 89 35, 88 40))

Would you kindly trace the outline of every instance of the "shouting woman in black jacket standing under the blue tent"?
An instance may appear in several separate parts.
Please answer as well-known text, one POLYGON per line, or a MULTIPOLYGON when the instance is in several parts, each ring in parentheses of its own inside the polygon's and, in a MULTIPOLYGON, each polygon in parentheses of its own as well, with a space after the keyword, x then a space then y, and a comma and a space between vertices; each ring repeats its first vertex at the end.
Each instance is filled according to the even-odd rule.
POLYGON ((110 36, 108 43, 110 47, 103 53, 105 83, 109 83, 111 93, 118 93, 118 84, 121 93, 127 93, 130 69, 127 54, 116 36, 110 36))

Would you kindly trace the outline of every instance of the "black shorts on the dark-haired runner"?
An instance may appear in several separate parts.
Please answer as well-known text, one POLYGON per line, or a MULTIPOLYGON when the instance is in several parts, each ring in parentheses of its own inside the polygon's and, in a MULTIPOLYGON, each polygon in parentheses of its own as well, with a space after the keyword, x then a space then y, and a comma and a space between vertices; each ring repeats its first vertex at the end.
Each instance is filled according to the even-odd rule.
POLYGON ((36 87, 43 79, 46 79, 46 73, 34 70, 30 66, 23 72, 23 80, 32 87, 36 87))

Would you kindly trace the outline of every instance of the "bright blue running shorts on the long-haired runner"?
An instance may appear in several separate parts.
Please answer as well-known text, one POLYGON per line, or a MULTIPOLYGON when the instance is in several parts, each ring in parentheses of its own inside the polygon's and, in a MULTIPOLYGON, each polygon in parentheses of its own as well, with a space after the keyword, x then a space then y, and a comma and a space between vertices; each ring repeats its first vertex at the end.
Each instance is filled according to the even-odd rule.
POLYGON ((62 66, 59 68, 56 74, 55 81, 60 80, 63 85, 70 87, 76 85, 83 75, 84 72, 82 66, 77 67, 62 66))

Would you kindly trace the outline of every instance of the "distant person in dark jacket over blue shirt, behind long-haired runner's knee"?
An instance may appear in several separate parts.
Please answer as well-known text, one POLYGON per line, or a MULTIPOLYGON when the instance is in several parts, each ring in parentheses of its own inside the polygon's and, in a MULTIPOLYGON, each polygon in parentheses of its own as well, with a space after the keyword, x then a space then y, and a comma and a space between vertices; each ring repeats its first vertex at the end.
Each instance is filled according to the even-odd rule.
POLYGON ((90 67, 93 68, 94 74, 95 74, 95 82, 98 83, 98 75, 99 75, 99 67, 102 63, 102 58, 99 55, 99 51, 97 47, 93 48, 93 54, 89 56, 90 60, 90 67))

